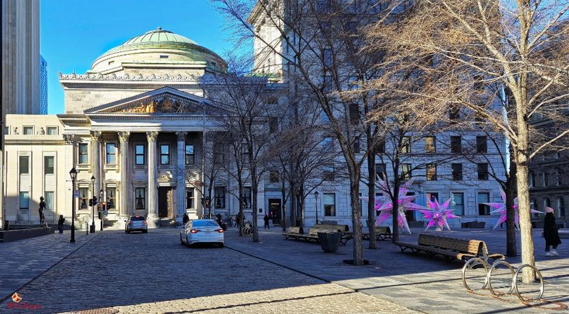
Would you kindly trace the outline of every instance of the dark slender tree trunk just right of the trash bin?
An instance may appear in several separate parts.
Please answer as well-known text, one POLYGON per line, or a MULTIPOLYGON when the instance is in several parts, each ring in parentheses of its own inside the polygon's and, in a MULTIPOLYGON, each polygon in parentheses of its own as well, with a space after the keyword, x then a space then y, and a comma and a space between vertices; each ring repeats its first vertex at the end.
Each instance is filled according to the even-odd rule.
POLYGON ((363 245, 361 241, 361 206, 359 199, 359 179, 360 172, 359 167, 355 165, 352 166, 352 171, 350 171, 350 200, 352 202, 352 232, 354 237, 352 241, 353 254, 354 254, 354 265, 363 265, 363 245))

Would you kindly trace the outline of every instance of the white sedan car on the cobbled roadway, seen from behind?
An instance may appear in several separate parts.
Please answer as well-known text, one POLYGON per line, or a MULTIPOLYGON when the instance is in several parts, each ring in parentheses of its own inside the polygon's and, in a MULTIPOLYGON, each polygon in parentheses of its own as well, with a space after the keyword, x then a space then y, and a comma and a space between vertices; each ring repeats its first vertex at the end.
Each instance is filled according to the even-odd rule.
POLYGON ((180 231, 180 243, 213 243, 223 247, 223 229, 213 219, 190 220, 180 231))

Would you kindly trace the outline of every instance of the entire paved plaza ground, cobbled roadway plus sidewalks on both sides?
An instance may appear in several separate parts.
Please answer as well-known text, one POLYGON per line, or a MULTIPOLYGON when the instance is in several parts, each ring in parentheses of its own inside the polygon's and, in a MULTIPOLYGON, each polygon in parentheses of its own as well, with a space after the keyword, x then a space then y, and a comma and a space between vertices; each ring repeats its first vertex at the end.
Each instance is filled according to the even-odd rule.
MULTIPOLYGON (((0 312, 25 313, 10 308, 16 290, 21 303, 41 307, 38 313, 547 313, 566 311, 569 304, 568 251, 560 246, 558 258, 541 257, 539 231, 537 267, 548 303, 533 307, 515 296, 468 293, 461 263, 402 254, 388 242, 365 250, 371 265, 353 267, 342 263, 351 256, 351 241, 326 254, 314 243, 285 241, 280 230, 261 231, 260 243, 229 230, 226 248, 188 248, 177 232, 105 231, 81 234, 75 244, 66 232, 3 243, 0 254, 8 256, 8 267, 0 272, 0 312)), ((483 239, 492 252, 504 250, 505 232, 452 235, 483 239)), ((516 258, 507 260, 519 265, 516 258)))

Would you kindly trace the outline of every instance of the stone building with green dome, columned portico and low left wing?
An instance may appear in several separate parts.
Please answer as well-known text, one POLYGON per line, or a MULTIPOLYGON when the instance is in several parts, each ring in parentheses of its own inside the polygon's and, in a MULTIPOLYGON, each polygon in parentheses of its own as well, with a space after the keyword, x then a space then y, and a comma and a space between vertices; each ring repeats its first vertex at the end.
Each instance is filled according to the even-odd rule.
MULTIPOLYGON (((73 190, 82 228, 97 217, 88 204, 93 196, 116 228, 130 215, 147 216, 151 228, 184 214, 202 217, 202 147, 212 145, 204 132, 215 129, 208 119, 215 108, 199 79, 226 69, 210 49, 158 27, 110 49, 84 74, 60 73, 65 114, 8 116, 7 178, 17 180, 6 184, 5 219, 38 224, 44 196, 47 221, 61 214, 71 221, 73 190)), ((226 215, 233 206, 227 191, 215 190, 216 210, 226 215)))

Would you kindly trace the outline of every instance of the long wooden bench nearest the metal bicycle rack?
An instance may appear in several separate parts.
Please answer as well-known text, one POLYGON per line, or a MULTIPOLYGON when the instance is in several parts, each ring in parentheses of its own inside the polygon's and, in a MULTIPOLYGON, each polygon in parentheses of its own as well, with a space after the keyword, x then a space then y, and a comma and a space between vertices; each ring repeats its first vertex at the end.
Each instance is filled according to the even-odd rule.
POLYGON ((441 255, 447 261, 453 259, 467 260, 472 257, 480 257, 484 261, 489 258, 503 259, 503 254, 489 254, 486 243, 482 240, 456 239, 441 237, 433 234, 420 234, 417 243, 396 242, 401 252, 410 249, 413 253, 425 252, 429 256, 441 255))

